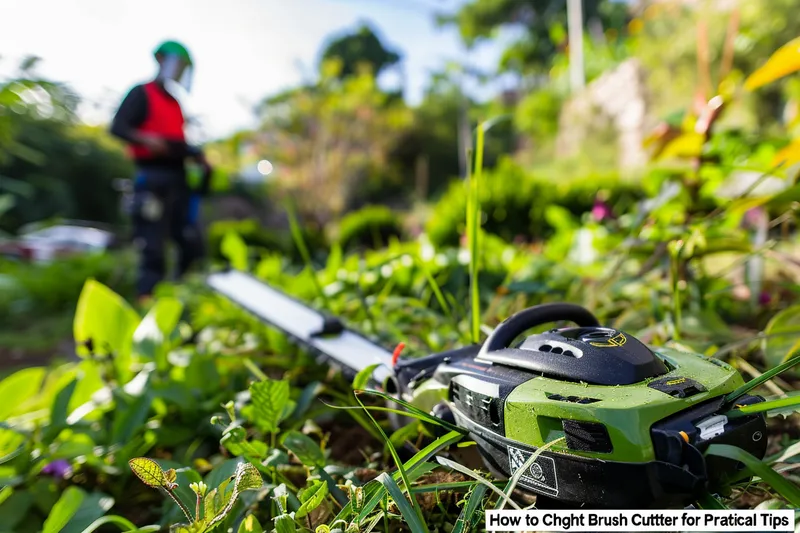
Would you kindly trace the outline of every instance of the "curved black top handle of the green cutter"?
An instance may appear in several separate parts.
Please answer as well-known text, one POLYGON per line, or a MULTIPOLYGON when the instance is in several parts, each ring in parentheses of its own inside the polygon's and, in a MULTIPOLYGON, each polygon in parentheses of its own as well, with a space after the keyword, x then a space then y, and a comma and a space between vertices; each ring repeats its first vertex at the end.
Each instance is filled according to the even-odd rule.
POLYGON ((557 320, 569 320, 581 327, 599 327, 600 322, 589 312, 588 309, 580 305, 567 303, 542 304, 529 307, 505 319, 492 331, 486 339, 481 353, 494 352, 508 348, 511 341, 517 338, 520 333, 548 322, 557 320))

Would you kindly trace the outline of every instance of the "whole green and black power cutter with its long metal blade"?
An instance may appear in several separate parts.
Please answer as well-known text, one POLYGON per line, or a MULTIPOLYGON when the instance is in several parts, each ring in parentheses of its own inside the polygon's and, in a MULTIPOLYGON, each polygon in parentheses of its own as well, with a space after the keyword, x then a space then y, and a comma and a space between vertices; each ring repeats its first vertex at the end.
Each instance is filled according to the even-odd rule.
MULTIPOLYGON (((763 458, 764 414, 727 418, 726 395, 744 384, 724 362, 651 348, 602 327, 586 309, 546 304, 495 328, 480 345, 420 359, 392 354, 247 274, 209 285, 344 370, 373 364, 377 387, 467 430, 487 468, 508 478, 539 448, 518 486, 537 506, 684 507, 740 474, 705 456, 730 444, 763 458), (573 327, 524 334, 555 322, 573 327), (553 442, 557 441, 557 442, 553 442)), ((743 395, 737 405, 764 401, 743 395)))

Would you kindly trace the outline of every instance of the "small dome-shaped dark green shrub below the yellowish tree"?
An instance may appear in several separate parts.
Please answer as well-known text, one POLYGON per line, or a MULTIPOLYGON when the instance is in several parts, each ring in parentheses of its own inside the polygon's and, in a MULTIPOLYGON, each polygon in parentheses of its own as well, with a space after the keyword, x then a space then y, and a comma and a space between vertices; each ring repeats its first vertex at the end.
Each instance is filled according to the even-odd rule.
POLYGON ((402 221, 383 205, 369 205, 349 213, 339 224, 338 240, 342 248, 377 249, 392 237, 404 236, 402 221))

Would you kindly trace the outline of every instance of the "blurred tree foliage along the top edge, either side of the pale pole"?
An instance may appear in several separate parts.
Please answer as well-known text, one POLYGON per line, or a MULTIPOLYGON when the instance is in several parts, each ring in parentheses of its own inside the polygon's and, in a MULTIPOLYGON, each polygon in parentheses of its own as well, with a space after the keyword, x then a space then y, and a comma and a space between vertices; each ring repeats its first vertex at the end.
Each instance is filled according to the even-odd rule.
MULTIPOLYGON (((584 28, 622 32, 627 6, 611 0, 583 0, 584 28)), ((499 30, 522 30, 503 54, 500 69, 517 73, 541 72, 567 45, 567 0, 471 0, 455 14, 439 17, 458 26, 468 46, 491 38, 499 30)))

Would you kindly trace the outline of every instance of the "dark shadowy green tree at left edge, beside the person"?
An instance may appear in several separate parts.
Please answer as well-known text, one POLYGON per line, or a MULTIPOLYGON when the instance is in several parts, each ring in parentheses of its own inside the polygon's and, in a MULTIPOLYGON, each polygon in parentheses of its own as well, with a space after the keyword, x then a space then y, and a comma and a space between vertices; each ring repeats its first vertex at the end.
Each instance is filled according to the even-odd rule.
POLYGON ((0 229, 58 216, 114 223, 113 181, 129 162, 104 128, 78 122, 78 96, 37 76, 37 61, 0 82, 0 229))

